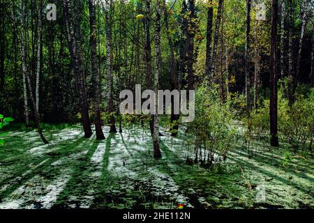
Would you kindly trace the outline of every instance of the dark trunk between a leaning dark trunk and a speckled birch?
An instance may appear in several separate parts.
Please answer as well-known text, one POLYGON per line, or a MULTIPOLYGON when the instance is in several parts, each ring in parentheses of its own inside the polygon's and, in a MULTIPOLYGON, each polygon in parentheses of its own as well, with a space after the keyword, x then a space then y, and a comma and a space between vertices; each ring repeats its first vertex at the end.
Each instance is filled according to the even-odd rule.
POLYGON ((97 38, 96 38, 96 10, 95 0, 89 0, 89 24, 90 38, 89 45, 91 47, 91 78, 94 89, 94 122, 96 139, 105 139, 100 120, 100 89, 99 89, 99 73, 97 64, 97 38))

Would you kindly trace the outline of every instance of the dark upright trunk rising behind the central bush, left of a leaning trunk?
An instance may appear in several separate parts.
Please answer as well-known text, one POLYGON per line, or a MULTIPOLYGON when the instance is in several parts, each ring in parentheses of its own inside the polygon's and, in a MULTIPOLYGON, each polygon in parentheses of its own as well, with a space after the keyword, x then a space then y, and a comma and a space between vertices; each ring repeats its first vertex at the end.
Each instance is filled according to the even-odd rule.
POLYGON ((211 42, 212 42, 212 32, 213 32, 213 1, 209 1, 209 8, 207 10, 207 31, 206 31, 206 75, 209 77, 209 85, 211 85, 211 42))

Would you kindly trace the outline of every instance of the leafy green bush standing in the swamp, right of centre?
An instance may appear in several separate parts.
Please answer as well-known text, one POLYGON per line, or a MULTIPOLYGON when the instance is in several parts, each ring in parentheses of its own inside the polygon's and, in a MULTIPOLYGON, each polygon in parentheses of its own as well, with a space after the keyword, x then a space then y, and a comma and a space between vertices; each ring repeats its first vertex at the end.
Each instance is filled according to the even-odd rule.
POLYGON ((195 120, 187 124, 190 143, 195 145, 195 162, 206 167, 225 160, 234 142, 234 112, 230 100, 222 102, 216 90, 201 86, 195 95, 195 120))

